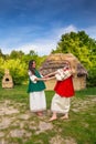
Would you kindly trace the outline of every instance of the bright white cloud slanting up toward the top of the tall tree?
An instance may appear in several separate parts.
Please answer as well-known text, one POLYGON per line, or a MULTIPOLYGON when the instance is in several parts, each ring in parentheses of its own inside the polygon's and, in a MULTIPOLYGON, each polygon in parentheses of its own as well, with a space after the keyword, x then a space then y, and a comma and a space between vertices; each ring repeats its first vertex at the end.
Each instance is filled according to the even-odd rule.
POLYGON ((52 49, 55 49, 57 45, 57 42, 60 41, 60 38, 62 34, 71 31, 77 31, 77 29, 74 25, 68 25, 66 28, 58 28, 53 29, 47 38, 38 39, 35 42, 26 43, 20 48, 17 48, 18 50, 22 50, 25 53, 29 53, 30 50, 34 50, 38 52, 39 55, 50 54, 52 49))

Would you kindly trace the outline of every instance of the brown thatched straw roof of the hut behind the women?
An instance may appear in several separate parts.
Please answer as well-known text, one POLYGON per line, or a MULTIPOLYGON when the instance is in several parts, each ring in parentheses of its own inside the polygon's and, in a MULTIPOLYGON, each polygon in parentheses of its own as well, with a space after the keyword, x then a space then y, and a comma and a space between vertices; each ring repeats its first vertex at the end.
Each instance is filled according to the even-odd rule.
POLYGON ((77 76, 86 75, 87 71, 81 64, 76 56, 72 53, 63 54, 63 53, 55 53, 50 54, 43 64, 40 68, 40 72, 45 75, 51 72, 56 71, 64 66, 64 61, 68 61, 71 63, 72 69, 76 72, 77 76))

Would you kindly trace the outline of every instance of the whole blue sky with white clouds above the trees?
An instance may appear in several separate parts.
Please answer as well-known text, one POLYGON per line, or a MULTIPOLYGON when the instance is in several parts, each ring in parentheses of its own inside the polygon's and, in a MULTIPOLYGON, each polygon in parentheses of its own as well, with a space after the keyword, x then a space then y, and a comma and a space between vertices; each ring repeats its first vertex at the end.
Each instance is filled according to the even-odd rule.
POLYGON ((84 30, 96 39, 96 0, 0 0, 0 49, 50 54, 61 35, 84 30))

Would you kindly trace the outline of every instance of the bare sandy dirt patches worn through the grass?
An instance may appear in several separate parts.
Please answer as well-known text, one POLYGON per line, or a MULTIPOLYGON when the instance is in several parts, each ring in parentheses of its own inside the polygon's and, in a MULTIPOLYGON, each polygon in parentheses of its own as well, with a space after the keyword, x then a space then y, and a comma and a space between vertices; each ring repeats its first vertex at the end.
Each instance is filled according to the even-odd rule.
MULTIPOLYGON (((79 112, 85 110, 90 104, 96 103, 96 96, 89 96, 86 101, 74 100, 72 101, 72 111, 79 112), (76 102, 77 101, 77 102, 76 102)), ((53 124, 49 123, 49 115, 45 114, 43 117, 36 117, 29 110, 24 109, 25 105, 22 103, 14 103, 13 101, 6 100, 0 102, 0 144, 12 144, 10 137, 23 138, 23 143, 29 140, 32 135, 32 131, 35 134, 53 130, 53 124)), ((73 138, 62 140, 60 135, 52 137, 51 144, 76 144, 73 138), (63 142, 64 141, 64 142, 63 142)), ((18 144, 18 143, 13 143, 18 144)))

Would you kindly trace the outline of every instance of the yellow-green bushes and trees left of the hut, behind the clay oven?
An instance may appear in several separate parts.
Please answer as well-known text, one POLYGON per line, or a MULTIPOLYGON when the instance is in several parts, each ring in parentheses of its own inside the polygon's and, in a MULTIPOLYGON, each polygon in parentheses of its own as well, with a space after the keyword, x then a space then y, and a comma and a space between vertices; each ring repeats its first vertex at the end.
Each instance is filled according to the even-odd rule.
POLYGON ((45 56, 38 56, 34 51, 30 51, 29 54, 23 54, 21 51, 12 51, 8 59, 0 58, 0 82, 4 75, 4 70, 9 69, 12 75, 13 83, 20 85, 28 82, 28 65, 30 60, 36 61, 36 69, 41 66, 41 63, 45 60, 45 56))

